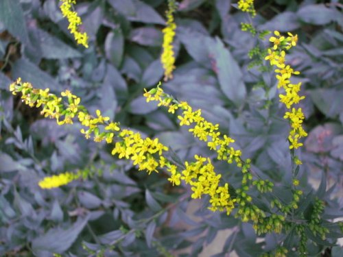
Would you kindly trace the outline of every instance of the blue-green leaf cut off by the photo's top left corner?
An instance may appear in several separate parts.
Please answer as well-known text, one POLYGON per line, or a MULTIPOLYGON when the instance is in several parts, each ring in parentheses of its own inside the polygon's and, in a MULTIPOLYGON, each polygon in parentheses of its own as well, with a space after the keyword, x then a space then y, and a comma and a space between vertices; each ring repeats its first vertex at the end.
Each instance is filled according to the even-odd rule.
POLYGON ((22 42, 28 42, 26 22, 19 0, 0 1, 0 21, 4 27, 22 42))

